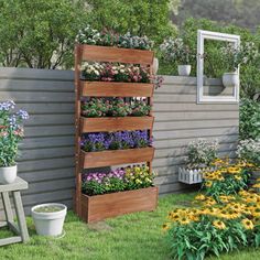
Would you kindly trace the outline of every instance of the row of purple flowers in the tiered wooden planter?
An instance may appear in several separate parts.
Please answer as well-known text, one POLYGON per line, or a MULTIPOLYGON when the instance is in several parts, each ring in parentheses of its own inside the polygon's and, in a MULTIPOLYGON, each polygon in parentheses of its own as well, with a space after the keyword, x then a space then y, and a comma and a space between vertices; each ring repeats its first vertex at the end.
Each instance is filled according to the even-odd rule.
POLYGON ((151 144, 147 130, 87 133, 80 141, 86 152, 145 148, 151 144))

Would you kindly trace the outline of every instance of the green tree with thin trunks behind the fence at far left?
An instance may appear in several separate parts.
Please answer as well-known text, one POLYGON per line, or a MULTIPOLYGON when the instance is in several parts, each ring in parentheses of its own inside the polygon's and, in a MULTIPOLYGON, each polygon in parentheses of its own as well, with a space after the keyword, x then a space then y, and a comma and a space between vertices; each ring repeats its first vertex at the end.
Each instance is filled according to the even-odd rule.
POLYGON ((87 14, 82 0, 0 0, 0 64, 71 67, 75 35, 87 14))

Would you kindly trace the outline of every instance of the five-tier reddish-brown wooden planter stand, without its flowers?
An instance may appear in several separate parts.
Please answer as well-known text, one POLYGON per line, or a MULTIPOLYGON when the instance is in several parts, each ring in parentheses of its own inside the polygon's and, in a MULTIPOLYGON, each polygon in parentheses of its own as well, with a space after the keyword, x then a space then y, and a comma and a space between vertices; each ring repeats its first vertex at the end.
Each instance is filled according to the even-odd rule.
POLYGON ((156 187, 97 196, 87 196, 82 194, 82 173, 84 169, 145 162, 150 172, 152 172, 152 160, 154 156, 154 148, 152 147, 127 150, 107 150, 100 152, 85 152, 80 150, 79 141, 83 133, 147 129, 149 130, 150 137, 152 137, 154 122, 152 112, 145 117, 82 117, 82 97, 147 97, 149 105, 152 106, 154 91, 153 84, 82 80, 79 67, 83 61, 141 64, 143 66, 149 66, 150 73, 152 74, 153 52, 95 45, 76 45, 75 47, 75 210, 77 215, 87 223, 127 213, 153 210, 158 204, 156 187))

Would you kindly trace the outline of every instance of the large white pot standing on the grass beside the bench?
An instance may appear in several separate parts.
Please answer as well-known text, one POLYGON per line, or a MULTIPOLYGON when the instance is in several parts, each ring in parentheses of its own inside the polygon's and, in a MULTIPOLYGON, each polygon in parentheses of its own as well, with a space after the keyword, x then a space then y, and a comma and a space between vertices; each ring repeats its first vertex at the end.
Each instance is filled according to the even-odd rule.
POLYGON ((35 228, 37 235, 40 236, 61 236, 63 232, 63 224, 67 214, 67 207, 63 204, 57 203, 47 203, 41 204, 32 207, 31 209, 33 221, 35 224, 35 228), (40 207, 45 206, 56 206, 61 207, 59 212, 53 213, 41 213, 35 212, 40 207))

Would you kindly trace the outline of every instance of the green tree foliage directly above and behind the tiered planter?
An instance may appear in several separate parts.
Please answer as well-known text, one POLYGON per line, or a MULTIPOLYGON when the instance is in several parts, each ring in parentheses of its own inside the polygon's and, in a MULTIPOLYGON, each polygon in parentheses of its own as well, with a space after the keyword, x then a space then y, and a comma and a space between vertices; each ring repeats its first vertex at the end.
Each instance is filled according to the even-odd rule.
POLYGON ((170 22, 172 1, 88 0, 91 9, 88 22, 98 30, 107 28, 117 33, 145 34, 155 43, 161 43, 176 31, 170 22))

